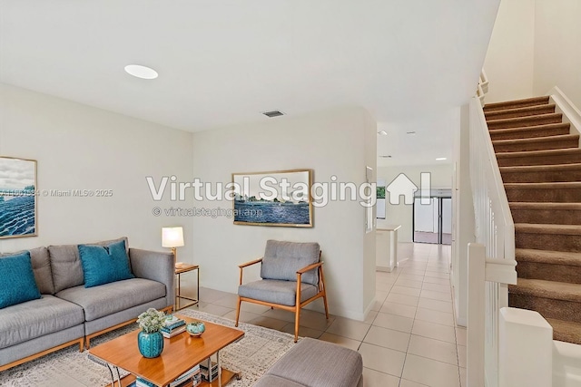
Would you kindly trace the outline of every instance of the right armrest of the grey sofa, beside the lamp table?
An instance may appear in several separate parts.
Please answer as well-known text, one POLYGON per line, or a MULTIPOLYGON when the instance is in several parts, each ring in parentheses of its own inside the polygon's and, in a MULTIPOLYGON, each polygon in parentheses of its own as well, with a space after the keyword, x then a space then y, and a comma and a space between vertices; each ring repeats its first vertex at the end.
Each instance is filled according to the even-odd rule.
POLYGON ((130 248, 129 259, 135 276, 151 279, 165 285, 167 306, 173 306, 175 302, 173 254, 130 248))

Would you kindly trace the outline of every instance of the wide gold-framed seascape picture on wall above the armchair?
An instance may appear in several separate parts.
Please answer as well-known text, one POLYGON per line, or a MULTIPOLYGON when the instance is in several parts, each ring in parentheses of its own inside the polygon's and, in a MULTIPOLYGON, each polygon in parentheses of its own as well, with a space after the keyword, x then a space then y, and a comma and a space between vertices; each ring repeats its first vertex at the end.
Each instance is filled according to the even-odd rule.
POLYGON ((232 173, 235 225, 313 227, 312 169, 232 173))

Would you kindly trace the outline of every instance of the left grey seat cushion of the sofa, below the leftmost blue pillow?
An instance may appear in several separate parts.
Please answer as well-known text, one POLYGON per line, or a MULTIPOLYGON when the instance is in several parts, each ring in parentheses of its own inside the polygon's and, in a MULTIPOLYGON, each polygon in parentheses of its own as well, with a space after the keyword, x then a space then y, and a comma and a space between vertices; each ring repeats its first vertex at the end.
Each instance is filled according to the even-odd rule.
POLYGON ((84 323, 83 308, 54 295, 0 310, 0 348, 84 323))

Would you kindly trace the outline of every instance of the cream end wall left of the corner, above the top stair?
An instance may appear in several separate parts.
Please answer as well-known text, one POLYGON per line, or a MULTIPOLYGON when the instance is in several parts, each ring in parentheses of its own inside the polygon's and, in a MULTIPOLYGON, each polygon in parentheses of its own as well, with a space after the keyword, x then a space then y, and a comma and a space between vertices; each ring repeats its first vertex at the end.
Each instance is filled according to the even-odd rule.
POLYGON ((535 0, 502 0, 484 62, 487 103, 533 96, 534 49, 535 0))

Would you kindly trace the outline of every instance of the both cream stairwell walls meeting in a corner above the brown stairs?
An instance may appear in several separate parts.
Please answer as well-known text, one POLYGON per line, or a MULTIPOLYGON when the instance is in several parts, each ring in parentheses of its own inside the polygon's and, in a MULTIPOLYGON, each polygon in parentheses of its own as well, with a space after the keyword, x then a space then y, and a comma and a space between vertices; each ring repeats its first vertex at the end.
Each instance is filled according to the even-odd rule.
POLYGON ((557 86, 581 106, 581 3, 503 0, 484 69, 486 102, 544 95, 557 86))

